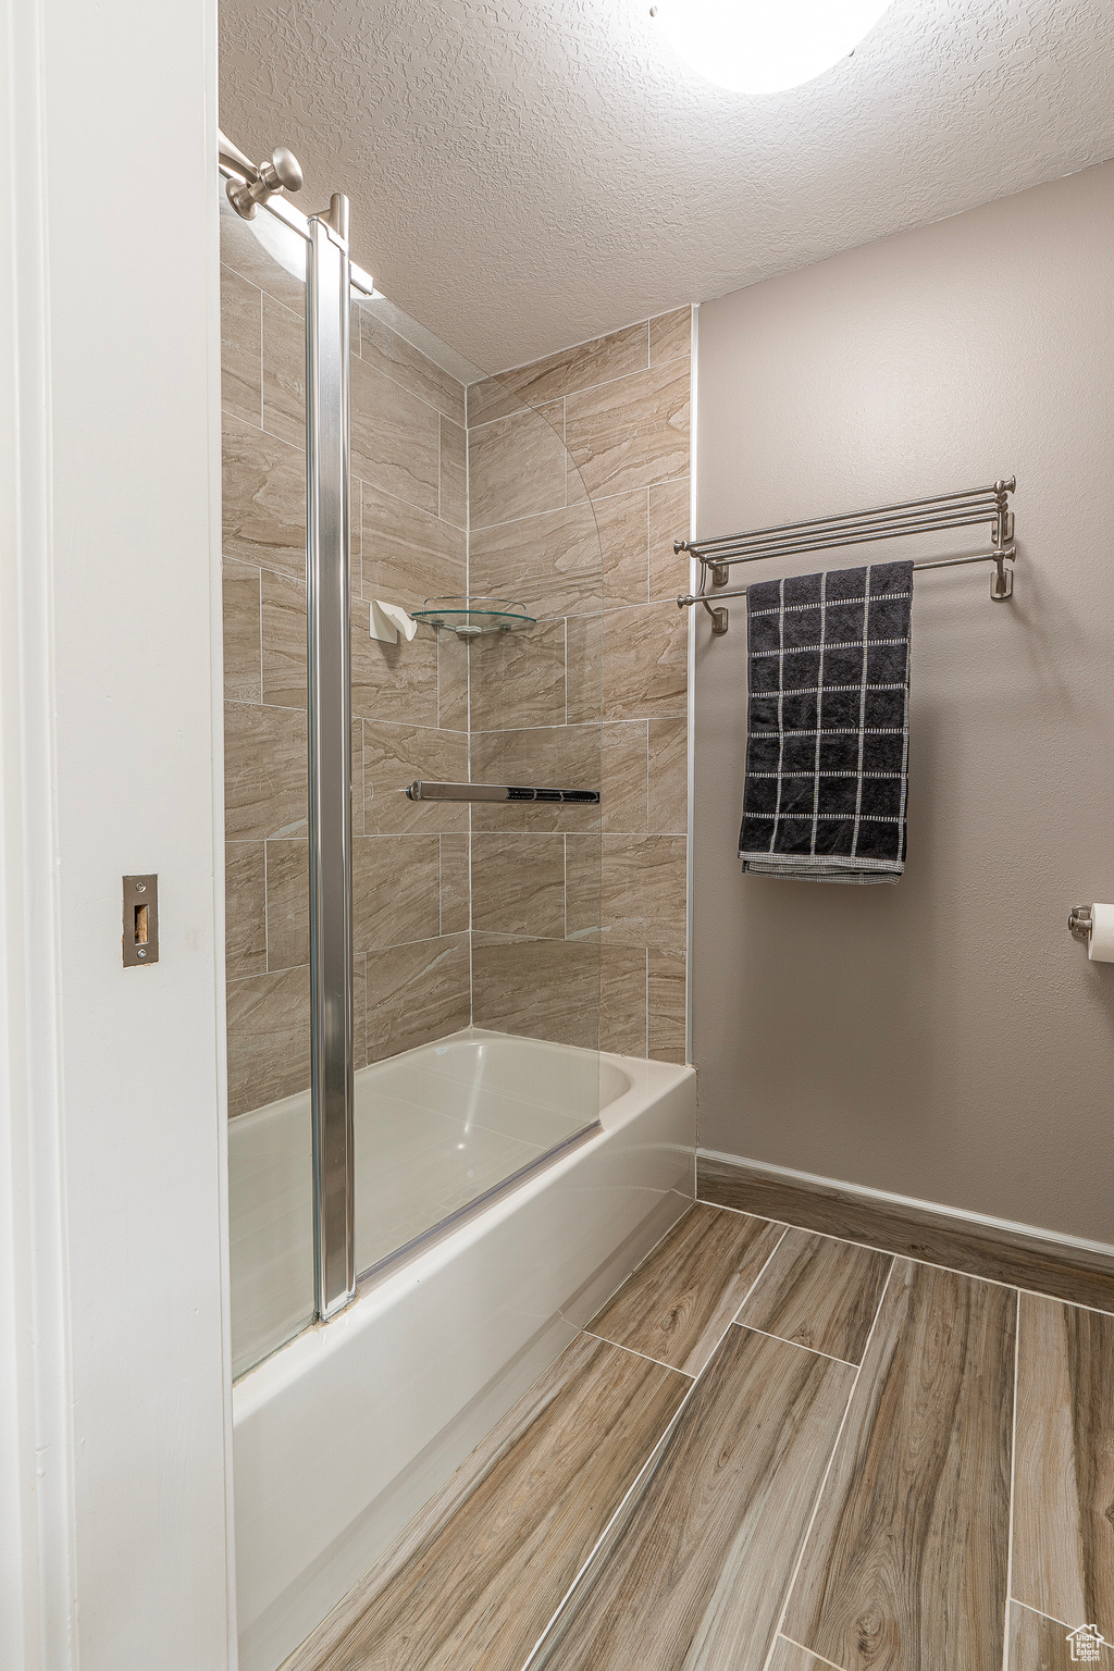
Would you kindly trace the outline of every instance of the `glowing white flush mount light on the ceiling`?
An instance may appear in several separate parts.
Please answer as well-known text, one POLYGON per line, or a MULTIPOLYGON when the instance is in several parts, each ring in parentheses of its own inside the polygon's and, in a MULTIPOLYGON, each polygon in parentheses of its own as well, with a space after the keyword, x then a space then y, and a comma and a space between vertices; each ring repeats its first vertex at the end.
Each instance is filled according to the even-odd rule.
POLYGON ((890 0, 656 0, 650 15, 678 58, 717 87, 777 94, 822 75, 890 0))

